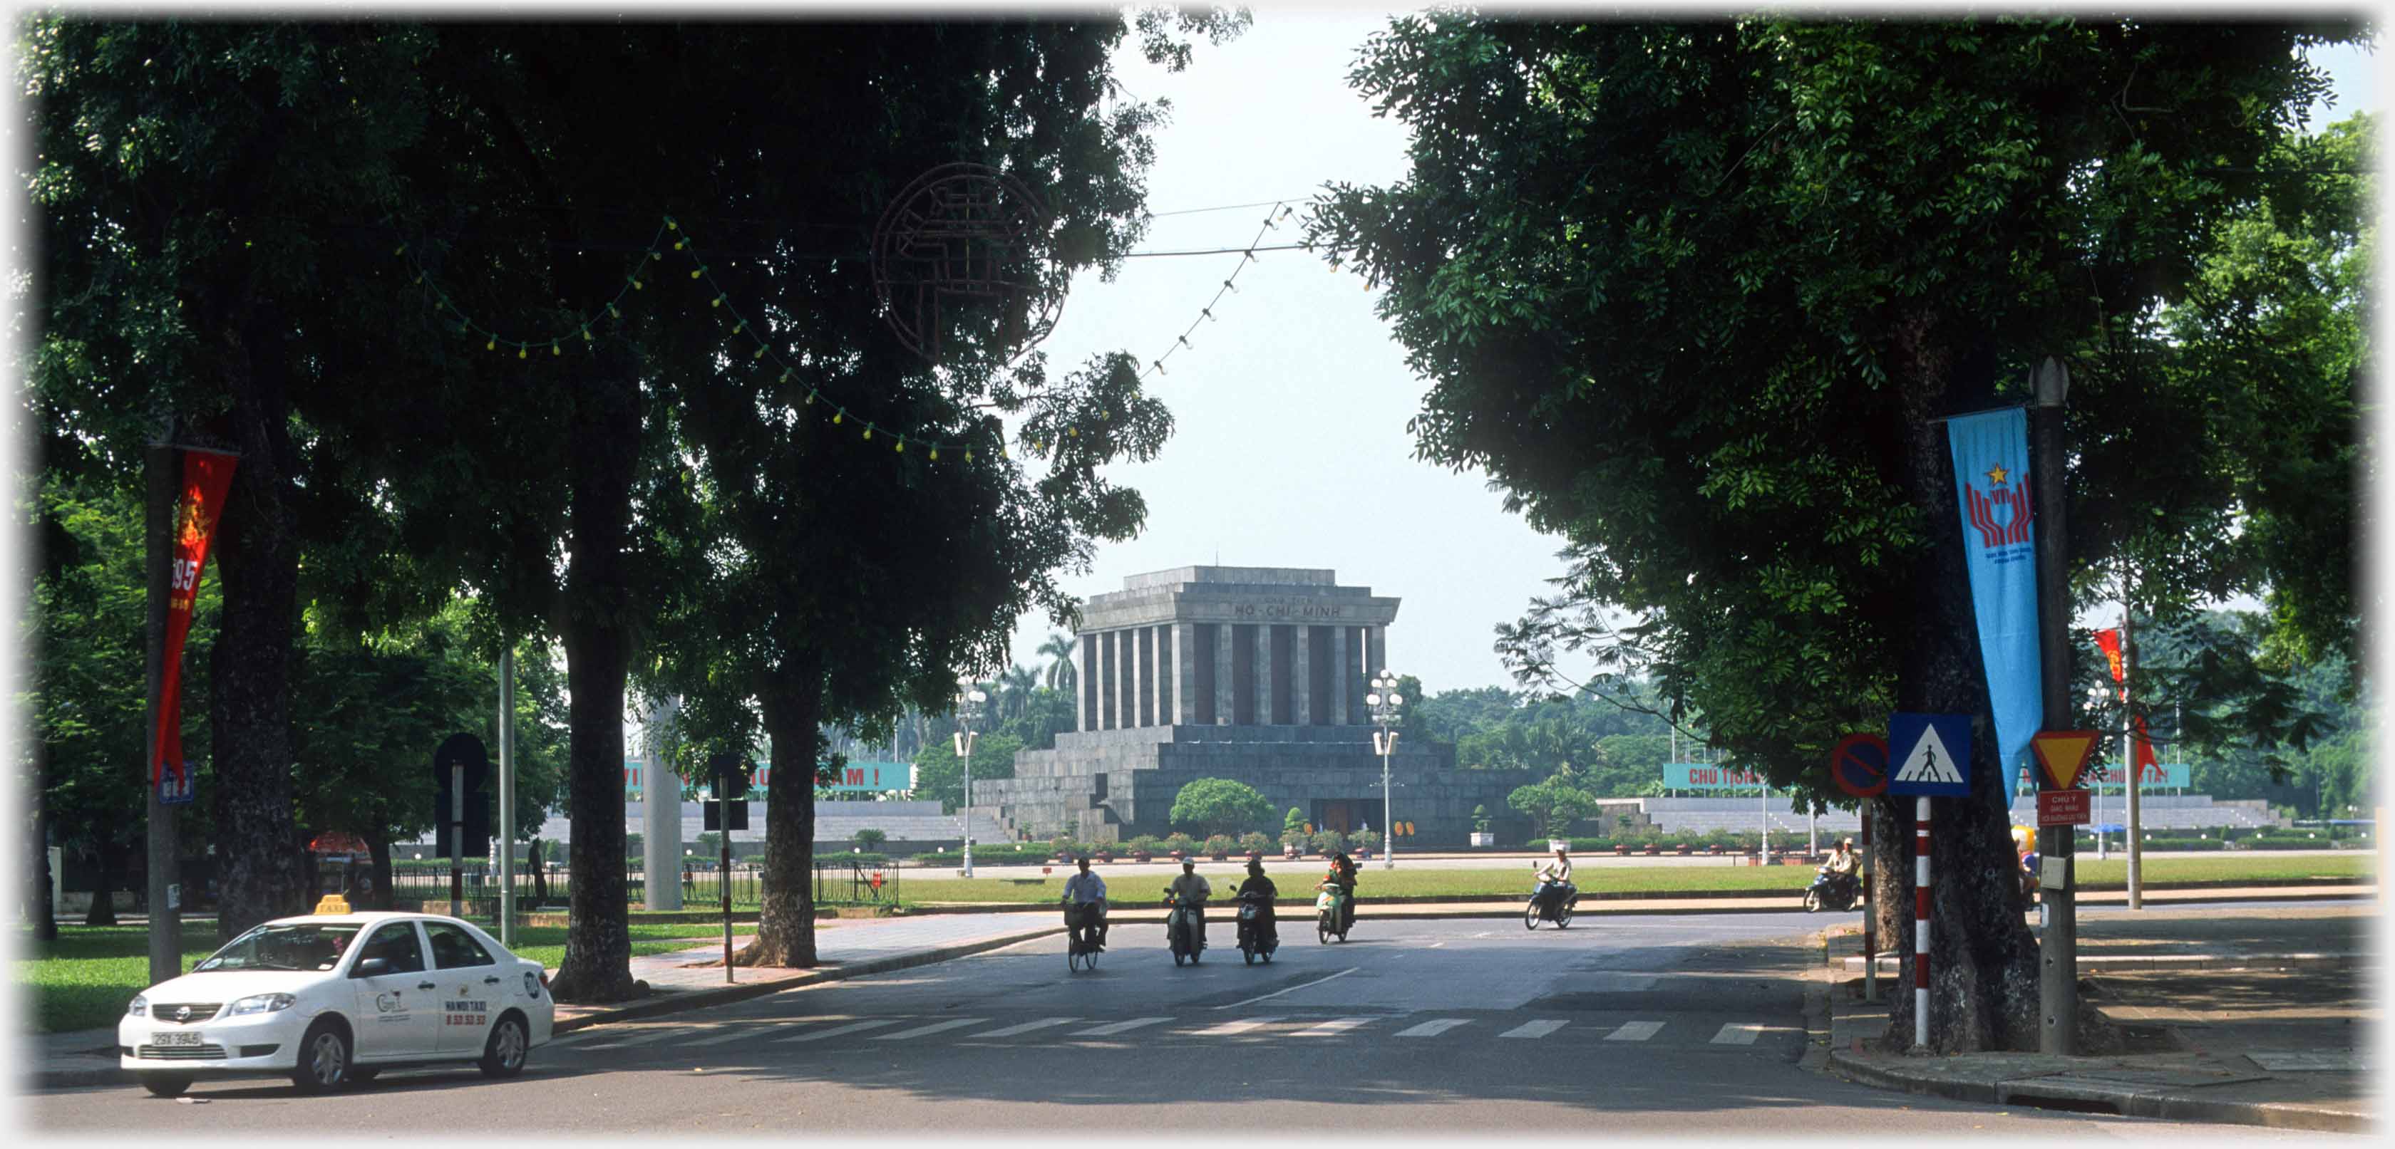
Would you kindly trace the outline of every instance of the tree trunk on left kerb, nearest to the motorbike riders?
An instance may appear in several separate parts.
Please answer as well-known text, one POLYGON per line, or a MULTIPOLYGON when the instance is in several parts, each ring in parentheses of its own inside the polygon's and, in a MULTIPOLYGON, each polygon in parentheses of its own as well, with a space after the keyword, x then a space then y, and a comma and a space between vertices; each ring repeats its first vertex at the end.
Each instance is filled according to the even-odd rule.
POLYGON ((738 965, 814 965, 814 761, 821 756, 824 670, 812 656, 783 663, 764 704, 774 778, 764 800, 764 874, 757 941, 738 965))

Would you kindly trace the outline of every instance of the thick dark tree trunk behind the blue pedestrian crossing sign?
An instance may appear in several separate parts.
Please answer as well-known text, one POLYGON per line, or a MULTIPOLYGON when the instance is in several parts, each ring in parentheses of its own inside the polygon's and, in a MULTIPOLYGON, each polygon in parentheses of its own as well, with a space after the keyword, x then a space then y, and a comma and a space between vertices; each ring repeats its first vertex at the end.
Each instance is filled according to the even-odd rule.
MULTIPOLYGON (((1914 555, 1902 653, 1897 656, 1897 709, 1971 716, 1971 792, 1930 800, 1930 1051, 2033 1051, 2038 1048, 2038 948, 2017 907, 2012 831, 2005 771, 1995 761, 1988 685, 1981 670, 1971 584, 1964 570, 1962 519, 1947 426, 1933 421, 1957 409, 1993 402, 1993 357, 1978 349, 1954 354, 1935 316, 1916 314, 1894 333, 1894 371, 1904 393, 1904 486, 1921 515, 1928 543, 1914 555)), ((1890 756, 1902 754, 1890 747, 1890 756)), ((1911 893, 1914 807, 1897 797, 1890 845, 1906 862, 1911 893)), ((1875 838, 1878 840, 1878 838, 1875 838)), ((1914 924, 1906 914, 1899 950, 1911 955, 1914 924)), ((1914 1039, 1911 974, 1890 1008, 1887 1048, 1914 1039)))

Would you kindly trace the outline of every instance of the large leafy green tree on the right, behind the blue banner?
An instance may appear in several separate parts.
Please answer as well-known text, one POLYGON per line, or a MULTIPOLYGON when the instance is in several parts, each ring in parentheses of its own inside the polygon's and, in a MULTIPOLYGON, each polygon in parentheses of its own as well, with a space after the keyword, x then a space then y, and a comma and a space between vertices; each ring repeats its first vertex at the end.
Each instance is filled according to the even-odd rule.
MULTIPOLYGON (((1310 237, 1387 287, 1432 381, 1423 457, 1485 469, 1569 543, 1559 594, 1499 639, 1516 673, 1588 649, 1597 685, 1650 673, 1712 744, 1827 792, 1839 732, 1988 711, 1938 419, 2021 402, 2041 357, 2074 373, 2081 586, 2139 548, 2141 598, 2263 574, 2235 531, 2191 531, 2237 467, 2189 452, 2244 448, 2206 405, 2153 402, 2122 349, 2218 220, 2290 189, 2273 148, 2323 91, 2299 48, 2349 36, 1406 17, 1351 81, 1413 127, 1413 170, 1334 189, 1310 237)), ((2179 383, 2299 402, 2249 371, 2179 383)), ((1938 1051, 2036 1041, 2007 778, 1983 756, 1940 816, 1938 1051)), ((1909 807, 1868 816, 1902 840, 1909 807)))

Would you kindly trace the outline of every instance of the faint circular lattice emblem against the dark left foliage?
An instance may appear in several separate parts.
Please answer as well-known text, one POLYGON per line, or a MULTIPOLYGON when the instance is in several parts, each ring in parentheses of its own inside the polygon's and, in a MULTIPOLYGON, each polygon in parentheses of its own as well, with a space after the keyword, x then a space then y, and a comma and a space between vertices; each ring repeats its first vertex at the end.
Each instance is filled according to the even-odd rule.
POLYGON ((1056 330, 1063 280, 1049 275, 1047 203, 982 163, 944 163, 915 177, 874 225, 874 294, 908 349, 941 364, 941 340, 963 318, 989 318, 989 359, 1011 361, 1056 330))

